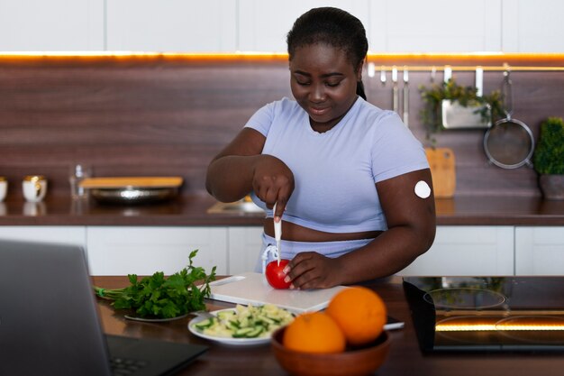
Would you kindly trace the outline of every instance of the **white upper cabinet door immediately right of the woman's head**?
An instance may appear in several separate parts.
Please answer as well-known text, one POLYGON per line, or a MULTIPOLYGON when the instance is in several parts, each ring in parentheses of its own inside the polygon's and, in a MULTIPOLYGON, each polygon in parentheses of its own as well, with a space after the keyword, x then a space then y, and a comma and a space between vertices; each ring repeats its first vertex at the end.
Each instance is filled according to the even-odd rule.
POLYGON ((374 52, 500 51, 501 0, 370 2, 374 52))

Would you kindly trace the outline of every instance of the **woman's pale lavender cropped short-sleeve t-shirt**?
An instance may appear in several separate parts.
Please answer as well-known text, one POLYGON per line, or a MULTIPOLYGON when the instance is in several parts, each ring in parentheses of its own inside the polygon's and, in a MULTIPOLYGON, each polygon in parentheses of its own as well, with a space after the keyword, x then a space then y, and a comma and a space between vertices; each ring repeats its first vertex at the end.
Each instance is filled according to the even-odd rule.
POLYGON ((296 188, 283 220, 318 231, 387 230, 375 184, 429 167, 423 145, 399 116, 360 97, 325 133, 315 132, 305 110, 286 97, 260 108, 245 127, 266 137, 263 154, 283 160, 294 173, 296 188))

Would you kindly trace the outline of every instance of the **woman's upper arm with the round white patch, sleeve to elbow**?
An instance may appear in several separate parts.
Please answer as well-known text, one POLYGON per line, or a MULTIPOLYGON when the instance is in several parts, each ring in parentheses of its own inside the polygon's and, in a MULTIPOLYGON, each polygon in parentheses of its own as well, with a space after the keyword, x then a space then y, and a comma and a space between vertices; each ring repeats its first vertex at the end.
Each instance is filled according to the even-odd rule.
POLYGON ((406 226, 414 232, 426 251, 431 247, 436 231, 434 195, 415 194, 415 185, 424 181, 432 188, 431 170, 415 170, 378 182, 378 197, 387 219, 388 229, 406 226))

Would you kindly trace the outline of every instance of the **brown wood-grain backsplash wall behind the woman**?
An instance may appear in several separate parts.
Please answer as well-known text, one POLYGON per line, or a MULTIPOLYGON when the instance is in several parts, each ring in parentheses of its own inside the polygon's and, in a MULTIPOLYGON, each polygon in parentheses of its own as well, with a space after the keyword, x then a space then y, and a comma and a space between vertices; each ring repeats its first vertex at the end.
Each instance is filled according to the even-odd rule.
MULTIPOLYGON (((453 74, 463 85, 473 85, 474 76, 453 74)), ((422 142, 419 87, 431 78, 430 71, 409 72, 409 127, 422 142)), ((368 101, 391 109, 390 72, 385 85, 379 69, 363 79, 368 101)), ((442 72, 434 79, 441 82, 442 72)), ((485 94, 502 79, 501 71, 486 71, 485 94)), ((536 140, 542 120, 564 117, 564 71, 514 71, 512 80, 513 116, 536 140)), ((209 160, 260 106, 291 96, 288 81, 287 61, 279 57, 0 57, 0 176, 19 184, 25 175, 45 175, 50 194, 69 195, 68 170, 82 163, 94 176, 178 175, 184 194, 203 192, 209 160)), ((484 133, 437 135, 437 146, 455 153, 455 195, 540 196, 532 169, 487 162, 484 133)), ((11 189, 8 199, 17 195, 11 189)))

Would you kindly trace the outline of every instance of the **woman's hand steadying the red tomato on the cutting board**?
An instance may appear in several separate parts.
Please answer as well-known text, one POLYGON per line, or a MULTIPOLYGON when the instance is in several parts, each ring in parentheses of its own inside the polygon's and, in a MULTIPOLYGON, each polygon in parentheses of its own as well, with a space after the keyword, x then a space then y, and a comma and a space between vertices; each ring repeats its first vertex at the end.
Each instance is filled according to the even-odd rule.
POLYGON ((327 289, 341 284, 341 268, 337 259, 317 252, 300 252, 287 265, 290 289, 327 289))

